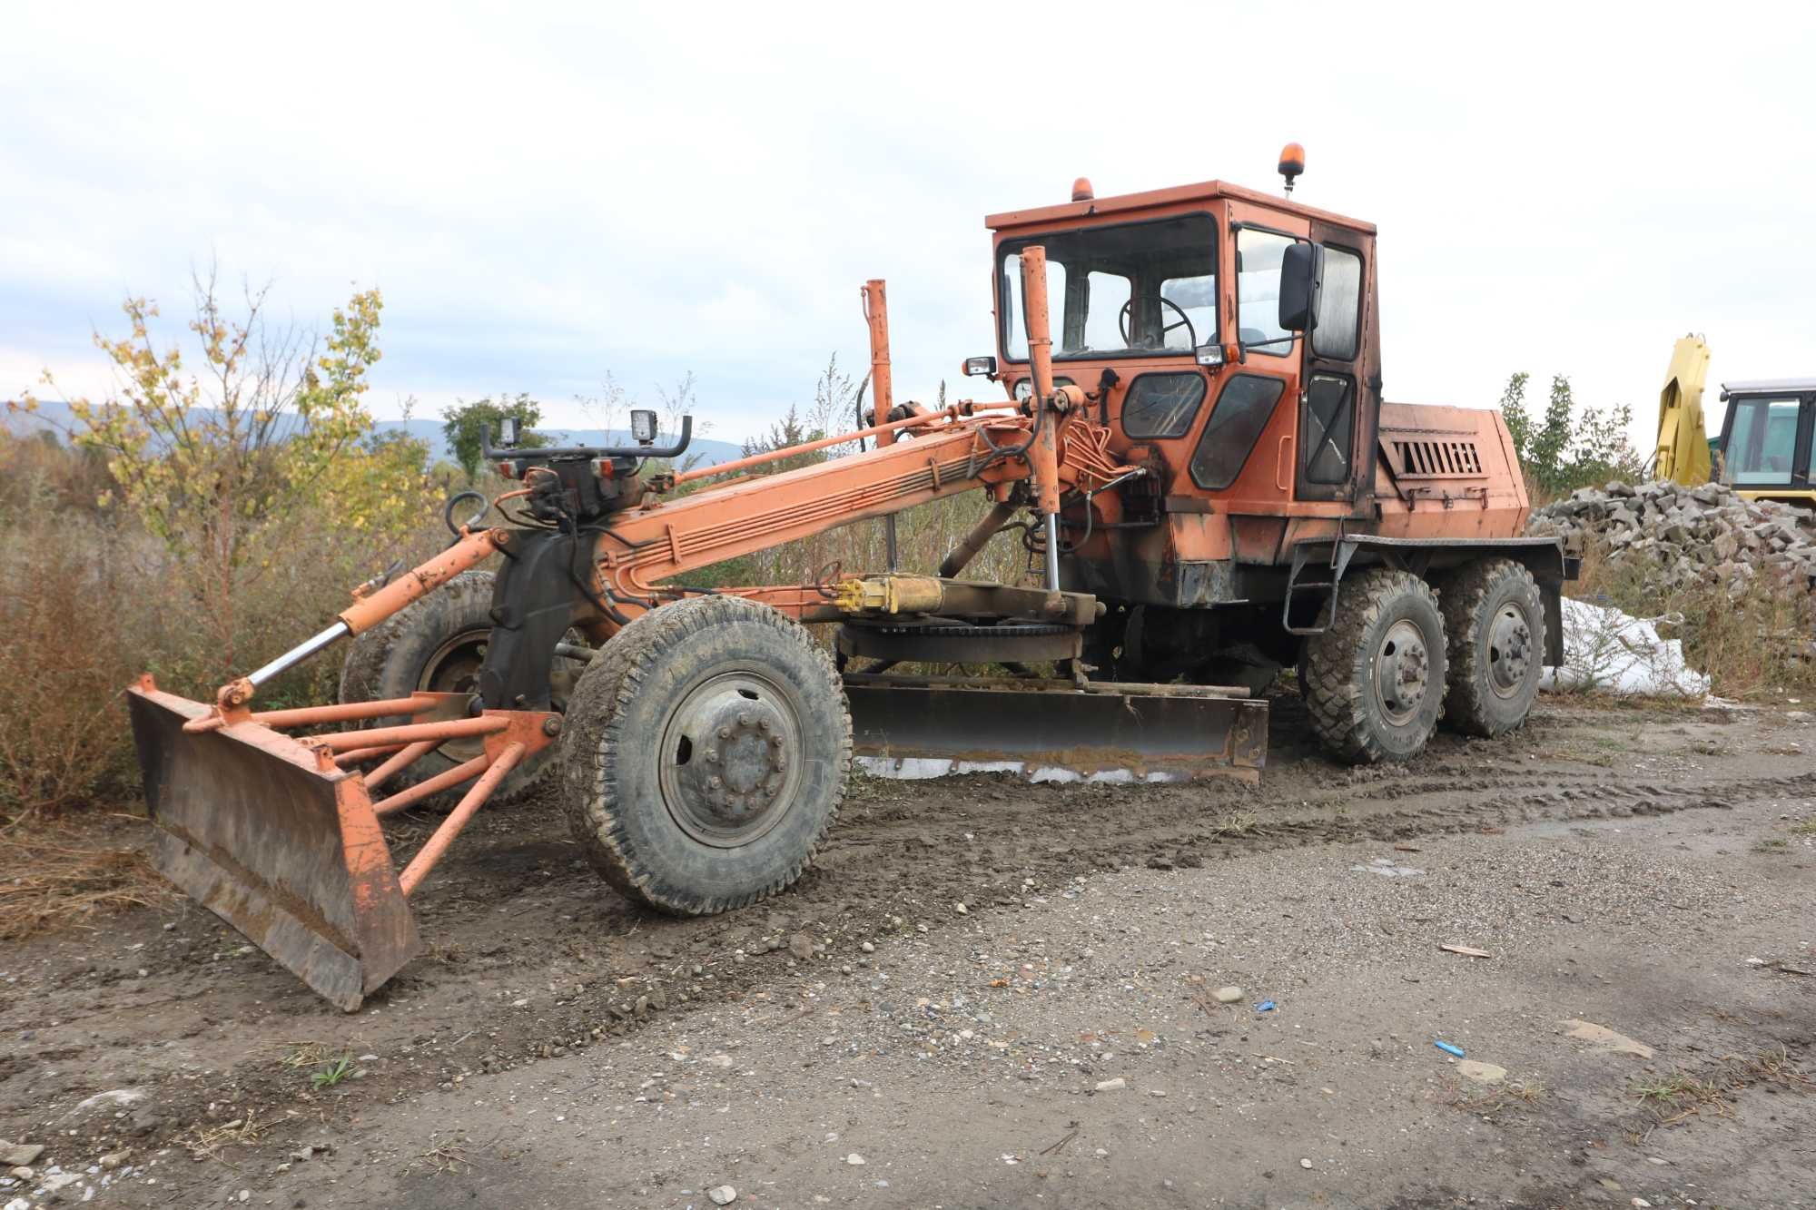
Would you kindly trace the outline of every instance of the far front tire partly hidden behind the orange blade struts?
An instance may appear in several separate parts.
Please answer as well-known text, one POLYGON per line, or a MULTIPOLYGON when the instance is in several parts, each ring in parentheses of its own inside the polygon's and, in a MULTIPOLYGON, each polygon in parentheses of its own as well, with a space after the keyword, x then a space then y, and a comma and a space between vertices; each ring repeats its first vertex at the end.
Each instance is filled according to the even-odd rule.
MULTIPOLYGON (((416 690, 476 692, 479 661, 492 634, 492 572, 469 570, 419 601, 398 610, 352 641, 341 663, 340 699, 383 701, 409 698, 416 690)), ((558 660, 558 663, 561 663, 558 660)), ((409 718, 381 718, 365 727, 398 727, 429 718, 465 718, 467 712, 409 718)), ((483 739, 449 739, 380 787, 380 796, 427 781, 479 756, 483 739)), ((554 745, 527 758, 505 776, 490 803, 523 794, 554 769, 554 745)), ((445 790, 458 796, 459 788, 445 790)), ((438 796, 439 798, 439 796, 438 796)))

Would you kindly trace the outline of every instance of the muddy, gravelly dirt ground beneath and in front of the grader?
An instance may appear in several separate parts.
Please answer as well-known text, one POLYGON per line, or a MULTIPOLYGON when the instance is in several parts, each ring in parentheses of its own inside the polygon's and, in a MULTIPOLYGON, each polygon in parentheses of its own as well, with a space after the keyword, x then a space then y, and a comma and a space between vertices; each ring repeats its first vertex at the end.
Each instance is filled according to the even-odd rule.
POLYGON ((0 948, 0 1203, 1816 1205, 1812 821, 1798 710, 1554 699, 1364 770, 1277 699, 1260 787, 864 779, 697 921, 528 801, 356 1016, 174 898, 0 948))

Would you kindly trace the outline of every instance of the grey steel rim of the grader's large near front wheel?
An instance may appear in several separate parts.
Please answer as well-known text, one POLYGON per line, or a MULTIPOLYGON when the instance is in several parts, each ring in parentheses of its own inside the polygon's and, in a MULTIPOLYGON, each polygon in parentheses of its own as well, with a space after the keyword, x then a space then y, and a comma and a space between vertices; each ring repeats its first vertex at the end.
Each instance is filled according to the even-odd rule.
POLYGON ((757 672, 706 676, 663 723, 663 807, 701 845, 750 845, 788 814, 801 749, 801 710, 781 685, 757 672))

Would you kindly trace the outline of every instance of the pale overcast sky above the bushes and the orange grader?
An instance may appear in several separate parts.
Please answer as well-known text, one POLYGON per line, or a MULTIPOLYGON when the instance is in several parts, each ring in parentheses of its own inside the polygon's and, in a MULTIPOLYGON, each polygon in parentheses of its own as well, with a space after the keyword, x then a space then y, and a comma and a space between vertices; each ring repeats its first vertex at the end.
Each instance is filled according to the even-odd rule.
POLYGON ((381 287, 380 414, 692 371, 735 440, 863 369, 864 278, 930 398, 992 349, 986 213, 1275 191, 1288 140, 1380 227, 1391 400, 1565 372, 1643 431, 1687 331, 1816 372, 1803 4, 563 7, 0 0, 0 396, 212 256, 307 322, 381 287))

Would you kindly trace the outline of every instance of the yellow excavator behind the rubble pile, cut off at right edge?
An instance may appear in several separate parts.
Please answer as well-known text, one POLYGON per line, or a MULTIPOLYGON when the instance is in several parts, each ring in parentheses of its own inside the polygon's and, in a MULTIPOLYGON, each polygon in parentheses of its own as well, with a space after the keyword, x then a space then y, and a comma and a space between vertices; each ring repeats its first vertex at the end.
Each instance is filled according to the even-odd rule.
POLYGON ((1702 392, 1709 345, 1682 336, 1658 394, 1653 474, 1694 487, 1711 478, 1747 500, 1816 509, 1811 451, 1816 445, 1816 376, 1722 383, 1722 434, 1703 429, 1702 392))

